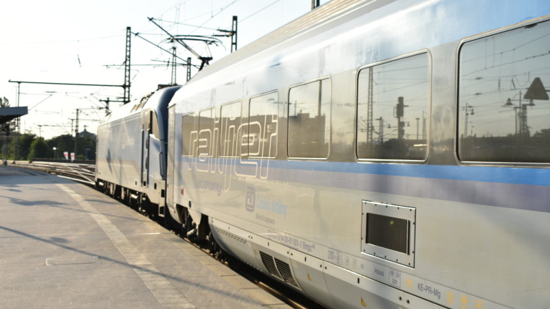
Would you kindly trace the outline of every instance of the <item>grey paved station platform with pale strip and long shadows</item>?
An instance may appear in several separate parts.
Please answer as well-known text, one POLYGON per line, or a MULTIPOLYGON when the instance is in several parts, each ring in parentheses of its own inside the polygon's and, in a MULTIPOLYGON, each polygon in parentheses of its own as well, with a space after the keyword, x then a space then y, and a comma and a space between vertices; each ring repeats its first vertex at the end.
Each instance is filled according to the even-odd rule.
POLYGON ((85 185, 0 166, 0 308, 289 308, 85 185))

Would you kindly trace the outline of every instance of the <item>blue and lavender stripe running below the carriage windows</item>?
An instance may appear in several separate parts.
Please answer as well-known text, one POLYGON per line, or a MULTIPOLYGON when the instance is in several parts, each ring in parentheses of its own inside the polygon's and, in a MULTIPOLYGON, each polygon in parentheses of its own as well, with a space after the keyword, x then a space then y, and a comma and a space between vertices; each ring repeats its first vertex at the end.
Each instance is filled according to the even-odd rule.
MULTIPOLYGON (((209 163, 217 161, 206 159, 197 167, 212 171, 209 163)), ((269 175, 272 181, 550 212, 547 168, 256 160, 263 167, 256 170, 253 162, 220 163, 235 164, 232 173, 269 175)))

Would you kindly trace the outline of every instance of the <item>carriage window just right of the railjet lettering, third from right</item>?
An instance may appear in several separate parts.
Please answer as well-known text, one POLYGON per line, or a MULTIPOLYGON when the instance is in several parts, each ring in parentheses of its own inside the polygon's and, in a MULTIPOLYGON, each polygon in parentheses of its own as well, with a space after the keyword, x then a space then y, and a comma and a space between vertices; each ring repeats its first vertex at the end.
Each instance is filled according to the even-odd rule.
POLYGON ((292 87, 288 96, 288 156, 325 159, 331 140, 328 78, 292 87))

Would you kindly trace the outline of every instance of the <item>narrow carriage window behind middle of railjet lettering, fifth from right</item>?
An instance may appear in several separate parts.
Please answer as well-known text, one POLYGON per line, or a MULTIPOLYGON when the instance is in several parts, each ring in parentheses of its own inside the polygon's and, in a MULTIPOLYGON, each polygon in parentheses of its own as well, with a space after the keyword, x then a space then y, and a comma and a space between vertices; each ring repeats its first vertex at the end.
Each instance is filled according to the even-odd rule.
POLYGON ((220 155, 221 157, 238 157, 236 141, 239 140, 237 136, 241 127, 241 102, 222 105, 220 118, 220 155))

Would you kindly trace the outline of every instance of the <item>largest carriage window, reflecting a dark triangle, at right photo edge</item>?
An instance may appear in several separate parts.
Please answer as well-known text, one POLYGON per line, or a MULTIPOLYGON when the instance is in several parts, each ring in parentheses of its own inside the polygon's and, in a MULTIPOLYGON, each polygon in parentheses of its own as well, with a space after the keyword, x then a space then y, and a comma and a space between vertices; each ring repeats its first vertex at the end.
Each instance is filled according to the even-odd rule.
POLYGON ((550 163, 549 51, 549 21, 462 45, 459 159, 550 163))

